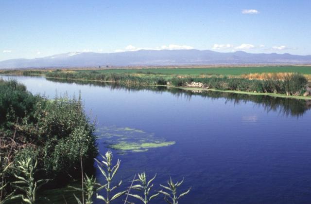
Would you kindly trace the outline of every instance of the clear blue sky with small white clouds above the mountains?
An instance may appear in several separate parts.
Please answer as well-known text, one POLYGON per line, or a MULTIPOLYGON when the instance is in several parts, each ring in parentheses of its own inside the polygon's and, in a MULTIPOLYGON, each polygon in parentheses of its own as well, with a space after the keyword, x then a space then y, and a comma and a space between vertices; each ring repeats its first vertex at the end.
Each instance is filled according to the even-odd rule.
POLYGON ((311 55, 311 0, 0 0, 0 60, 199 49, 311 55))

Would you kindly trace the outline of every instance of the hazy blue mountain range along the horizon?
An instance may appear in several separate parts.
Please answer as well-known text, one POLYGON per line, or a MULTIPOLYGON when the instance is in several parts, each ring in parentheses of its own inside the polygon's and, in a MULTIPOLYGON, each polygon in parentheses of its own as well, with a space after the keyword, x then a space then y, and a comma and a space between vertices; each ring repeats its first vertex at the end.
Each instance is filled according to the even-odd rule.
POLYGON ((311 55, 220 53, 210 50, 138 50, 120 53, 72 52, 34 59, 0 61, 0 69, 98 66, 170 66, 217 64, 311 64, 311 55))

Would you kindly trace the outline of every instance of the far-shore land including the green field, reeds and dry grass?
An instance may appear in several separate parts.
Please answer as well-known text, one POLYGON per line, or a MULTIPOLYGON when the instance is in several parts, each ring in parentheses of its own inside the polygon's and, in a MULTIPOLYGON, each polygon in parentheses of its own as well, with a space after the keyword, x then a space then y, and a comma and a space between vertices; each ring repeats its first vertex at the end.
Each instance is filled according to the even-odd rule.
POLYGON ((113 82, 126 86, 166 86, 205 92, 311 99, 310 66, 177 69, 52 69, 2 71, 0 74, 113 82))

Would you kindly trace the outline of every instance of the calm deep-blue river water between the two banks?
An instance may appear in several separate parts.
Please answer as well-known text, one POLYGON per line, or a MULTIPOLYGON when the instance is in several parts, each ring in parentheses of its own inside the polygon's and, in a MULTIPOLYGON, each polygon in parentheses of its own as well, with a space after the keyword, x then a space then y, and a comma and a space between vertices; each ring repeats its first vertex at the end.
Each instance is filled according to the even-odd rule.
MULTIPOLYGON (((185 177, 180 190, 191 186, 191 191, 180 200, 184 204, 311 203, 311 103, 15 78, 50 98, 81 92, 98 128, 130 127, 176 142, 145 152, 114 150, 114 158, 121 159, 116 179, 123 186, 145 171, 150 178, 157 173, 154 190, 169 176, 185 177)), ((101 153, 107 150, 104 142, 98 139, 101 153)), ((96 177, 104 182, 100 172, 96 177)), ((152 203, 164 201, 158 197, 152 203)))

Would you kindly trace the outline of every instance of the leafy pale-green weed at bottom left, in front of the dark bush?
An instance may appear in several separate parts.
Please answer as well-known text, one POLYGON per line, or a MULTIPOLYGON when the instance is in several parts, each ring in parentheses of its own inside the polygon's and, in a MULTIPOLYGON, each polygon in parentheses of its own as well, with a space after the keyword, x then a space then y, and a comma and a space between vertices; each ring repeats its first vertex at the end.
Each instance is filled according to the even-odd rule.
POLYGON ((13 185, 25 194, 17 195, 15 197, 21 197, 21 199, 27 204, 35 204, 35 201, 37 200, 37 190, 49 181, 47 179, 35 181, 35 173, 38 171, 36 167, 37 161, 34 163, 30 158, 17 161, 17 167, 15 167, 19 174, 17 175, 14 173, 17 181, 13 182, 13 185))

